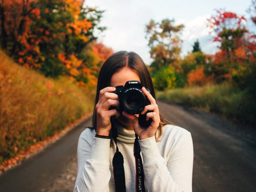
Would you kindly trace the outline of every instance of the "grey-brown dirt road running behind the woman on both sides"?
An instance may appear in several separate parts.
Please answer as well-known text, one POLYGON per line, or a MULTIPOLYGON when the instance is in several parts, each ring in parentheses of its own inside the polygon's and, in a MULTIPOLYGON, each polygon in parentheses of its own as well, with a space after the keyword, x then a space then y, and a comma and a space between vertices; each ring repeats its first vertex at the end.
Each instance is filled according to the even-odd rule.
MULTIPOLYGON (((160 113, 191 132, 193 191, 255 191, 256 132, 219 117, 157 101, 160 113)), ((62 139, 0 177, 0 191, 72 192, 84 121, 62 139)))

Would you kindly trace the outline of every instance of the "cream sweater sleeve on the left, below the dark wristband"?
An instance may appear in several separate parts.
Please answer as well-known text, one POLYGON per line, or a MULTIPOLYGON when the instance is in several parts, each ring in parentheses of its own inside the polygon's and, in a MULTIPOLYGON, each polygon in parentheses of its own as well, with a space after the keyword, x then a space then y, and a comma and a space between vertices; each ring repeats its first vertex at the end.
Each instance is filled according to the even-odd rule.
POLYGON ((108 192, 110 139, 80 135, 77 145, 78 171, 74 192, 108 192), (91 144, 90 144, 91 143, 91 144))

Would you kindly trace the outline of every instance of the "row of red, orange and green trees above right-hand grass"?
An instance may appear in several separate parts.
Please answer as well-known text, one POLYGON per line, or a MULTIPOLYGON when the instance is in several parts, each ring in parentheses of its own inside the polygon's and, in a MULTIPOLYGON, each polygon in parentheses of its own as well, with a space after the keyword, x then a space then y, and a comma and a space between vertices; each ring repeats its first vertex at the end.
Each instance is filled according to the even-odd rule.
MULTIPOLYGON (((256 25, 255 0, 247 11, 256 25)), ((150 69, 156 89, 231 82, 255 94, 256 36, 245 27, 244 16, 219 10, 207 21, 214 35, 212 41, 219 44, 218 52, 204 53, 197 40, 184 58, 180 56, 182 41, 179 37, 184 25, 175 25, 174 19, 151 20, 146 25, 153 59, 150 69)))

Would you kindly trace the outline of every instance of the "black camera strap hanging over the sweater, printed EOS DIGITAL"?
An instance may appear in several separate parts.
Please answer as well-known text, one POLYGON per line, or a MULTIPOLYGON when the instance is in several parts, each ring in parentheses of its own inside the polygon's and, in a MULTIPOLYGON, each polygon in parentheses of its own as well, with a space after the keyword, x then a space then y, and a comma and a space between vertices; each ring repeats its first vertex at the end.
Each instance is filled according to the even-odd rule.
MULTIPOLYGON (((111 135, 116 143, 116 153, 114 154, 112 164, 113 164, 113 173, 114 173, 114 180, 115 180, 115 189, 116 192, 125 192, 125 175, 124 175, 124 157, 119 151, 117 147, 117 140, 118 137, 117 129, 114 125, 113 116, 111 116, 111 135)), ((136 162, 136 192, 145 192, 145 184, 144 184, 144 172, 142 166, 142 159, 140 156, 140 144, 138 142, 138 135, 135 134, 135 141, 133 146, 133 155, 135 157, 136 162)))

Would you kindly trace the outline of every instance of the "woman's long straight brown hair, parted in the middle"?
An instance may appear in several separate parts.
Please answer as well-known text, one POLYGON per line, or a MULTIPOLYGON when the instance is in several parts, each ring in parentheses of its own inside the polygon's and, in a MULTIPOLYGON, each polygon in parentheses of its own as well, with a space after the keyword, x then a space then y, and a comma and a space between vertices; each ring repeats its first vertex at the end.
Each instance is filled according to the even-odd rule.
MULTIPOLYGON (((149 88, 151 90, 151 95, 154 97, 154 99, 156 99, 155 89, 153 86, 151 76, 148 72, 148 68, 146 67, 145 63, 140 58, 140 56, 135 52, 127 52, 127 51, 120 51, 112 54, 103 63, 100 69, 99 77, 98 77, 96 99, 95 99, 95 105, 94 105, 93 116, 92 116, 92 126, 93 126, 92 128, 95 130, 97 128, 95 106, 99 101, 100 90, 110 86, 110 81, 113 74, 124 67, 129 67, 133 71, 135 71, 140 77, 140 82, 142 86, 149 88)), ((155 135, 156 141, 159 141, 158 139, 163 134, 163 126, 166 124, 172 124, 172 123, 167 119, 165 119, 162 115, 160 115, 160 124, 157 128, 158 135, 157 136, 155 135)))

